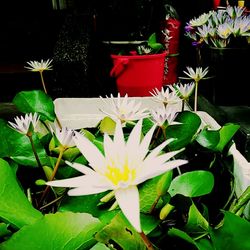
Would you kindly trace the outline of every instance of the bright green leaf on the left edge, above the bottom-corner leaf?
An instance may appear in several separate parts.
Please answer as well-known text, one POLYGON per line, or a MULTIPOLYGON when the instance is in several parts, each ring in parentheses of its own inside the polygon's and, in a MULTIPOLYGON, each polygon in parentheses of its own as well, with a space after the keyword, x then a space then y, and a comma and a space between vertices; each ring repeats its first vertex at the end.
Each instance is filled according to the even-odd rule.
POLYGON ((0 218, 17 228, 33 224, 42 214, 20 189, 9 164, 0 159, 0 218))

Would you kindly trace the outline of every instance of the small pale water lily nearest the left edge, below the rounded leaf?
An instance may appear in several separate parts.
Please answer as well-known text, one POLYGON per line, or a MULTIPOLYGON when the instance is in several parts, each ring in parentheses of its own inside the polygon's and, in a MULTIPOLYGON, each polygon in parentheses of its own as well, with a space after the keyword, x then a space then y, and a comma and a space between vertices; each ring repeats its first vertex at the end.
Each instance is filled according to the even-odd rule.
POLYGON ((26 135, 30 131, 31 125, 33 126, 34 131, 36 131, 36 126, 39 122, 39 118, 40 116, 37 113, 29 113, 25 114, 24 117, 15 117, 15 123, 9 122, 9 124, 19 133, 26 135))

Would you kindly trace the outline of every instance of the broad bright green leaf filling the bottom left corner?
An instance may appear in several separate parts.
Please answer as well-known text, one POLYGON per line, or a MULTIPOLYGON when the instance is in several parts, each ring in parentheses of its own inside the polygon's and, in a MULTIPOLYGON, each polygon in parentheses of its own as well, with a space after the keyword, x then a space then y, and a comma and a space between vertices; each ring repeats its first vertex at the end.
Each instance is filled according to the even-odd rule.
POLYGON ((101 222, 87 213, 47 214, 33 225, 20 229, 1 244, 0 249, 90 249, 96 243, 94 234, 101 228, 101 222))

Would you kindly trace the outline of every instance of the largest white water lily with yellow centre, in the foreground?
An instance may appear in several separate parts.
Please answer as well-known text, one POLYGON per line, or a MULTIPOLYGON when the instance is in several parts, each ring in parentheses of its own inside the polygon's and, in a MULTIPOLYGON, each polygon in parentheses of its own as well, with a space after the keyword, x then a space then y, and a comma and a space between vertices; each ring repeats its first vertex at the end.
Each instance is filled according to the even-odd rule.
POLYGON ((47 184, 54 187, 72 187, 68 194, 75 196, 114 190, 120 209, 131 225, 138 232, 142 232, 137 185, 187 163, 186 160, 169 161, 180 150, 162 153, 171 139, 149 152, 155 127, 153 126, 141 140, 140 119, 126 141, 121 122, 118 121, 113 140, 108 134, 104 134, 104 155, 91 141, 76 132, 74 141, 91 168, 73 163, 71 166, 82 172, 83 176, 47 184))

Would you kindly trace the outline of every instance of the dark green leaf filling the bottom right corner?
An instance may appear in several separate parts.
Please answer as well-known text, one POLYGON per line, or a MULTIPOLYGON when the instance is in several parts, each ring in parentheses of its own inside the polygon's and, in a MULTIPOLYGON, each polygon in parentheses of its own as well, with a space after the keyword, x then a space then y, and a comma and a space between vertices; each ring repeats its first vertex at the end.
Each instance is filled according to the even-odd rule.
POLYGON ((216 249, 250 249, 250 222, 233 213, 224 212, 224 223, 211 232, 211 239, 216 249))

